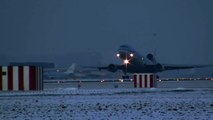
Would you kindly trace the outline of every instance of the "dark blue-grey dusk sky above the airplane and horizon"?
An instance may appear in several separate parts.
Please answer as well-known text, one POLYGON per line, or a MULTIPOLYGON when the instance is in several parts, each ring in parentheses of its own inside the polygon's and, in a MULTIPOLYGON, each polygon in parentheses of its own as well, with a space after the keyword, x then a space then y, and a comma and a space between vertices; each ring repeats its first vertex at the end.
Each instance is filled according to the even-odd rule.
POLYGON ((128 44, 161 63, 213 64, 212 11, 212 0, 0 0, 0 55, 90 51, 107 64, 128 44))

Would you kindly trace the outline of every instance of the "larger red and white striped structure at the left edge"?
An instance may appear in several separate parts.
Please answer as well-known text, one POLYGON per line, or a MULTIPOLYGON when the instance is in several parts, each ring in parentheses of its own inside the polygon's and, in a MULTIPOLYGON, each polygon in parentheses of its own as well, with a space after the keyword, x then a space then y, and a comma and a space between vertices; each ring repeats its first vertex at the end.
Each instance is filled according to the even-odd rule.
POLYGON ((0 66, 0 91, 43 90, 42 67, 0 66))

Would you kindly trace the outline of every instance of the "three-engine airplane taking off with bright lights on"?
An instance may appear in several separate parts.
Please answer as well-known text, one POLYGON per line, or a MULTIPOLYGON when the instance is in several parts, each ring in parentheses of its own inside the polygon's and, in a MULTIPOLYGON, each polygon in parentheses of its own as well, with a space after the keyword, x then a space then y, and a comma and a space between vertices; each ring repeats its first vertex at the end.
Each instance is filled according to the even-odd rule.
MULTIPOLYGON (((156 61, 153 54, 149 53, 146 57, 128 45, 121 45, 117 51, 116 56, 123 60, 122 65, 109 64, 106 67, 97 67, 99 70, 105 69, 110 72, 122 70, 123 79, 129 79, 127 73, 159 73, 167 70, 190 69, 207 67, 209 65, 170 65, 161 64, 156 61)), ((157 76, 159 78, 159 76, 157 76)))

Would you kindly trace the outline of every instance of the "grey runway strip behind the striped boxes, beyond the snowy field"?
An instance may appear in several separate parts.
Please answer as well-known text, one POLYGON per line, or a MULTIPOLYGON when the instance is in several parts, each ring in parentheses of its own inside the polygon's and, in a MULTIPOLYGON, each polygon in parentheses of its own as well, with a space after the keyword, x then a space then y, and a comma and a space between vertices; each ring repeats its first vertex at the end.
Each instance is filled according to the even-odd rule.
MULTIPOLYGON (((122 82, 119 80, 108 80, 108 81, 56 80, 54 83, 44 83, 45 90, 55 88, 80 88, 80 89, 134 88, 134 83, 133 81, 129 80, 128 81, 124 80, 122 82)), ((213 88, 213 81, 212 80, 161 81, 161 82, 158 81, 156 88, 213 88)))

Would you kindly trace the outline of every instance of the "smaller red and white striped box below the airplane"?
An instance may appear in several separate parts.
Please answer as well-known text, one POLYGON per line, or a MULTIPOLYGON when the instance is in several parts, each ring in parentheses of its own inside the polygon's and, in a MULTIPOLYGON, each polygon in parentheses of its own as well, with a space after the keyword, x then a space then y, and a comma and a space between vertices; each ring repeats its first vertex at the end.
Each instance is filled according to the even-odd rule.
POLYGON ((135 73, 135 88, 153 88, 156 87, 156 76, 154 73, 135 73))

